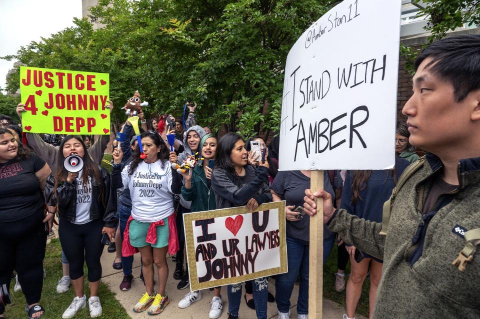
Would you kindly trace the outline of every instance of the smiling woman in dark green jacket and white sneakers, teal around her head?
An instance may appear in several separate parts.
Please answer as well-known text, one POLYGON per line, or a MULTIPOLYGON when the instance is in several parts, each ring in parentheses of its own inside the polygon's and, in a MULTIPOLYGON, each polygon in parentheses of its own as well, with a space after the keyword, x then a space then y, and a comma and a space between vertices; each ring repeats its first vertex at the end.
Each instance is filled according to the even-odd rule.
MULTIPOLYGON (((200 140, 201 151, 199 157, 203 157, 201 163, 197 163, 192 171, 181 174, 185 184, 181 187, 181 196, 191 201, 190 211, 202 212, 216 209, 215 194, 211 187, 210 178, 216 151, 216 137, 206 134, 200 140)), ((178 308, 187 308, 192 303, 201 299, 201 291, 193 291, 183 297, 178 303, 178 308)), ((216 319, 221 316, 223 303, 220 296, 220 288, 213 291, 213 299, 210 303, 208 318, 216 319)))

